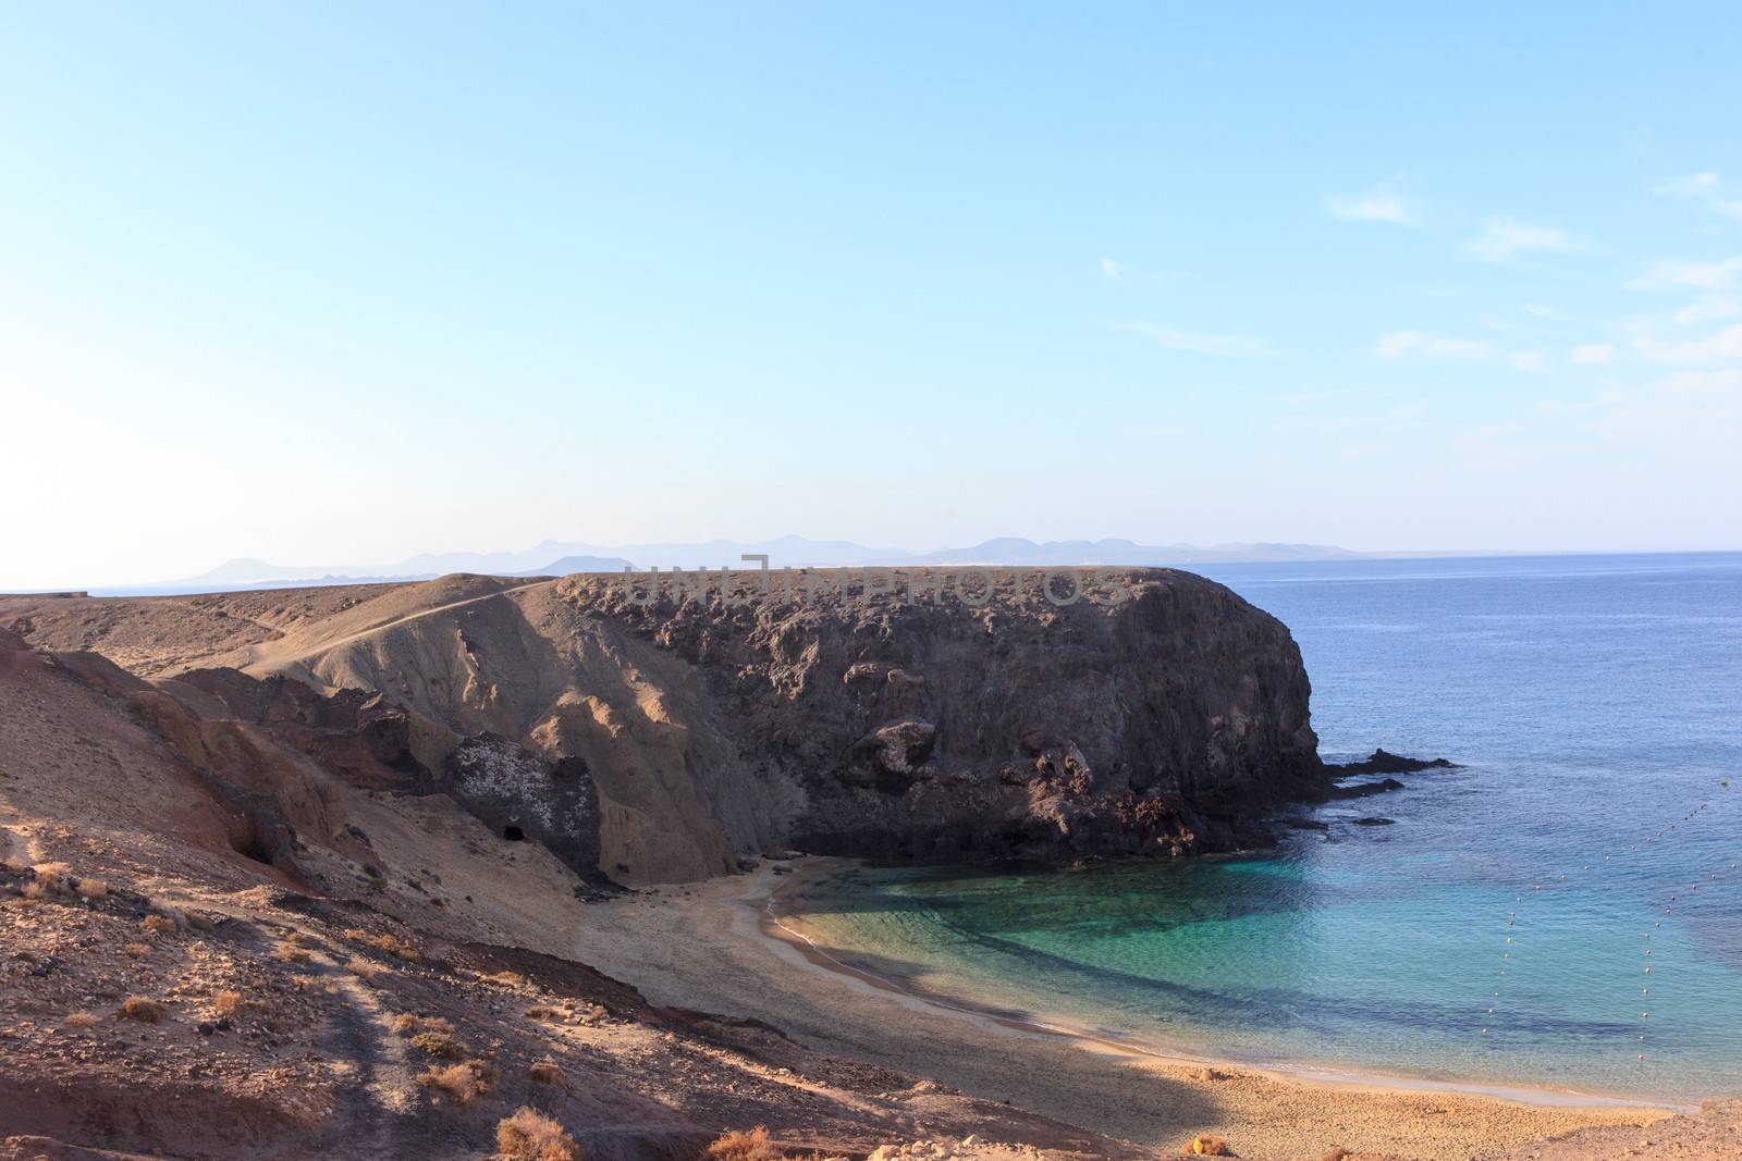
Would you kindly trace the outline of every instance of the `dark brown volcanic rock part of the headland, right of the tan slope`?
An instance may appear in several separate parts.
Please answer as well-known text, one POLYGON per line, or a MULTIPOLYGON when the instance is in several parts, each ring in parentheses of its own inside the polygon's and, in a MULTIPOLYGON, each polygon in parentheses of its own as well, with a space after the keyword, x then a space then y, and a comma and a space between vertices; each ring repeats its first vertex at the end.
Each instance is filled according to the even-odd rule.
MULTIPOLYGON (((1289 799, 1329 792, 1287 628, 1171 569, 1099 573, 1101 604, 1056 606, 1040 574, 922 578, 942 597, 784 592, 733 573, 730 595, 636 594, 575 576, 564 599, 681 658, 784 825, 761 842, 876 858, 1077 860, 1228 846, 1289 799), (1115 601, 1117 597, 1117 601, 1115 601), (786 790, 794 787, 794 795, 786 790)), ((716 580, 718 583, 718 580, 716 580)), ((1064 587, 1056 585, 1056 592, 1064 587)), ((688 688, 690 682, 686 681, 688 688)), ((692 762, 699 747, 690 750, 692 762)), ((699 778, 700 782, 700 778, 699 778)))

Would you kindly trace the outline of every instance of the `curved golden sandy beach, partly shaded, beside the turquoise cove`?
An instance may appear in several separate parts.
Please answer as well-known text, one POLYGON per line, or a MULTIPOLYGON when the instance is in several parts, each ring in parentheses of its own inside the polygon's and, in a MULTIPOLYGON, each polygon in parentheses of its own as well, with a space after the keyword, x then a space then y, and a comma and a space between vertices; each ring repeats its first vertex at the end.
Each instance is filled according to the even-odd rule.
POLYGON ((1526 1102, 1169 1058, 906 994, 841 970, 791 924, 782 931, 770 923, 768 900, 782 881, 826 865, 803 860, 793 877, 763 867, 587 907, 575 956, 655 1003, 765 1020, 807 1046, 1092 1124, 1162 1154, 1207 1131, 1246 1158, 1319 1158, 1343 1147, 1453 1159, 1669 1116, 1547 1091, 1526 1102))

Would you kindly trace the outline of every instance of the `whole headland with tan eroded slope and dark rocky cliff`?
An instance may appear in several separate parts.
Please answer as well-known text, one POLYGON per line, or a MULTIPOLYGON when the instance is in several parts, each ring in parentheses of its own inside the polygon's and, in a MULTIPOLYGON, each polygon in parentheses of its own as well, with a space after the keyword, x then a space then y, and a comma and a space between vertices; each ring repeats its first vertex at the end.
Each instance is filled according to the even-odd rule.
MULTIPOLYGON (((221 623, 225 597, 136 602, 117 625, 199 717, 270 729, 354 785, 448 794, 624 882, 791 848, 1216 849, 1327 785, 1287 628, 1190 573, 1097 569, 1068 604, 1012 569, 690 580, 451 576, 331 614, 279 594, 268 635, 188 658, 232 668, 150 644, 179 625, 155 620, 221 623)), ((84 604, 31 607, 31 635, 82 642, 103 613, 84 604)), ((246 740, 200 729, 207 748, 246 740)))

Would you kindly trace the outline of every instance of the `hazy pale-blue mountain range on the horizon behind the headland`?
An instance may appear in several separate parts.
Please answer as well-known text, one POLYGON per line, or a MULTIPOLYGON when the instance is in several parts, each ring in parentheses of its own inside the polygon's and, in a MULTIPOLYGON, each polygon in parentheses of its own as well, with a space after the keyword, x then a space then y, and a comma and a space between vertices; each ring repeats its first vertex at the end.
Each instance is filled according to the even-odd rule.
MULTIPOLYGON (((98 588, 101 595, 228 592, 301 585, 364 585, 416 581, 448 573, 491 576, 564 576, 620 573, 625 567, 746 567, 742 557, 766 555, 768 567, 899 566, 899 564, 1240 564, 1265 560, 1350 560, 1369 554, 1334 545, 1139 545, 1131 540, 1049 540, 1002 536, 965 548, 913 552, 868 548, 845 540, 779 540, 700 543, 587 545, 547 540, 519 552, 420 554, 397 564, 284 566, 256 559, 225 560, 209 573, 157 585, 98 588)), ((754 567, 754 566, 749 566, 754 567)))

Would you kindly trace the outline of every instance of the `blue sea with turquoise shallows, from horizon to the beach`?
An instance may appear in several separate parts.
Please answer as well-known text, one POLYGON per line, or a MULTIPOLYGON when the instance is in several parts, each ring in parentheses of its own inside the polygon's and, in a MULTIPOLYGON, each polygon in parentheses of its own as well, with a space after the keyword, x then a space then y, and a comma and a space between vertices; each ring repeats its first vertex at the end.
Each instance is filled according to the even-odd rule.
POLYGON ((1261 856, 857 867, 789 903, 819 943, 1254 1064, 1742 1093, 1742 554, 1211 574, 1294 630, 1329 759, 1467 766, 1261 856))

